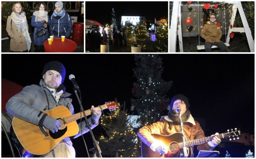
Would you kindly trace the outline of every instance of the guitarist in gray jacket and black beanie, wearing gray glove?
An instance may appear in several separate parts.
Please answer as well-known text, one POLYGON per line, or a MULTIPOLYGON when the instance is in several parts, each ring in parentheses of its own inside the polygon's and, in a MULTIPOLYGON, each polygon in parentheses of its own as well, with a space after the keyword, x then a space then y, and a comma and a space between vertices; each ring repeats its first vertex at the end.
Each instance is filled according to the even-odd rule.
MULTIPOLYGON (((25 120, 37 126, 50 130, 53 134, 58 132, 61 124, 58 120, 47 115, 42 111, 51 110, 57 106, 65 106, 74 114, 74 107, 69 98, 70 93, 65 92, 62 84, 65 79, 65 67, 58 61, 51 61, 45 64, 39 86, 30 85, 11 97, 6 104, 6 109, 13 116, 25 120)), ((100 108, 92 106, 92 116, 88 119, 91 128, 99 123, 101 117, 100 108)), ((85 121, 78 124, 79 129, 82 125, 82 134, 89 131, 85 126, 85 121)), ((74 138, 81 135, 80 130, 74 138)), ((42 145, 43 148, 44 145, 42 145)), ((40 148, 40 147, 38 147, 40 148)), ((24 155, 24 154, 22 154, 24 155)), ((23 157, 26 157, 25 155, 23 157)), ((62 139, 50 152, 40 157, 75 157, 75 150, 69 137, 62 139)))

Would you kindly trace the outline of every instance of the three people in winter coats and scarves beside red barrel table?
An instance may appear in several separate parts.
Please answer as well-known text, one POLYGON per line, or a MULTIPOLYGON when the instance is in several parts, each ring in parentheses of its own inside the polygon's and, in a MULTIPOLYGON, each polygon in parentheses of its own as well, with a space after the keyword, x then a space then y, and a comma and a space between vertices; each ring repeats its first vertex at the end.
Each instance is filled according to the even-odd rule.
MULTIPOLYGON (((63 8, 63 2, 55 3, 55 10, 51 17, 48 15, 47 5, 39 2, 32 15, 31 25, 34 27, 35 52, 44 52, 43 43, 54 36, 68 38, 73 29, 72 18, 63 8), (49 27, 49 30, 48 30, 49 27)), ((31 49, 31 38, 26 14, 20 3, 15 3, 12 13, 7 18, 6 31, 10 36, 11 52, 29 52, 31 49)))

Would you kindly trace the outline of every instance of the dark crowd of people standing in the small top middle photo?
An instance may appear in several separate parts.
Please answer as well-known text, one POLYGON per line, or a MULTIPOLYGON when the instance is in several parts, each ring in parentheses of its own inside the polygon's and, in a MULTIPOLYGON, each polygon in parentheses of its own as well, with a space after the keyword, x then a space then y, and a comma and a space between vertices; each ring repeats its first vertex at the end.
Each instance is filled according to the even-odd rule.
POLYGON ((115 31, 114 33, 110 30, 108 34, 106 33, 106 30, 104 30, 101 36, 98 29, 93 29, 91 32, 88 31, 88 33, 85 34, 85 39, 86 51, 94 52, 95 49, 100 48, 100 45, 104 43, 108 43, 110 46, 113 45, 114 47, 127 46, 126 42, 128 37, 125 30, 119 32, 115 31))

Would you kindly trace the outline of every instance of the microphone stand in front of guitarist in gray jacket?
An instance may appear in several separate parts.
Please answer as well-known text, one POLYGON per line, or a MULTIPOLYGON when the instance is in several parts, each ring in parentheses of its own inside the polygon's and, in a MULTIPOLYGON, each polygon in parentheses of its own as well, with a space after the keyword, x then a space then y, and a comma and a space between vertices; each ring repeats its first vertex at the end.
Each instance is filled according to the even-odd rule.
MULTIPOLYGON (((83 112, 83 116, 84 116, 84 119, 85 119, 86 127, 89 128, 90 133, 91 133, 91 135, 92 135, 92 140, 93 140, 93 144, 94 144, 95 150, 96 150, 96 152, 99 154, 99 156, 102 158, 102 156, 101 156, 101 148, 100 148, 100 146, 99 146, 99 142, 96 141, 96 139, 95 139, 95 137, 94 137, 94 135, 93 135, 93 133, 92 133, 91 126, 89 125, 88 119, 87 119, 87 117, 86 117, 86 115, 85 115, 85 113, 84 113, 84 109, 83 109, 81 100, 80 100, 80 98, 79 98, 79 96, 78 96, 78 93, 77 93, 77 90, 76 90, 75 87, 74 87, 74 92, 75 92, 75 94, 76 94, 77 100, 78 100, 79 105, 80 105, 80 107, 81 107, 81 110, 82 110, 82 112, 83 112)), ((81 130, 81 135, 83 135, 83 134, 82 134, 82 130, 81 130)), ((88 157, 89 157, 89 156, 88 156, 88 157)), ((96 157, 96 155, 93 155, 93 157, 96 157)))

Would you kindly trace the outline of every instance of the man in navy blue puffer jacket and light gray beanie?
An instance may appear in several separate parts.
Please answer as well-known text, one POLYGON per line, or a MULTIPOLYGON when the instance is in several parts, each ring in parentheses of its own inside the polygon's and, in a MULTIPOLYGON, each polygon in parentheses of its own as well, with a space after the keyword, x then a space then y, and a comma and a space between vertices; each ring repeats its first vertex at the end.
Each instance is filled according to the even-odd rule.
POLYGON ((54 6, 55 10, 50 18, 50 35, 55 38, 60 38, 61 36, 69 38, 73 28, 72 18, 66 13, 61 1, 56 2, 54 6))

